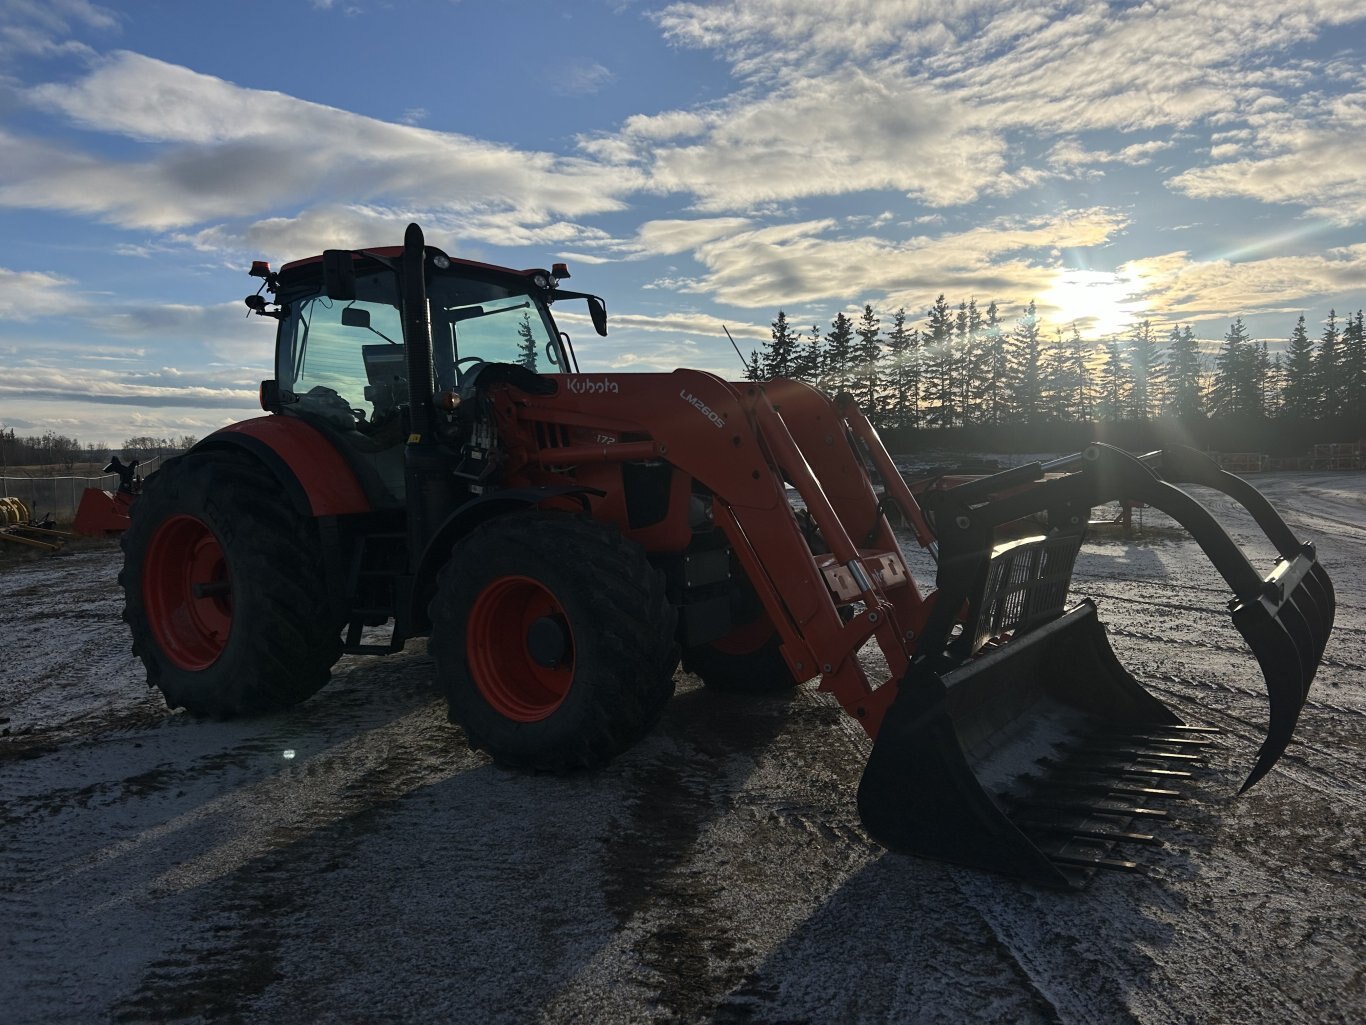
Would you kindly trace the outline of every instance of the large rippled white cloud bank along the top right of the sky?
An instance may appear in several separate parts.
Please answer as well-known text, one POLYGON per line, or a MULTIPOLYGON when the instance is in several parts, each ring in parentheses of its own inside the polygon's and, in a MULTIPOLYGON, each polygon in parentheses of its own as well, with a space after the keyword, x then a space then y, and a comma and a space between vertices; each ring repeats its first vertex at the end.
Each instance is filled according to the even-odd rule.
MULTIPOLYGON (((1239 0, 675 3, 657 15, 668 38, 723 53, 736 75, 769 92, 708 112, 705 130, 680 122, 679 135, 698 141, 660 150, 653 178, 657 187, 693 191, 706 210, 867 189, 952 205, 1041 180, 1038 169, 1012 165, 1009 133, 1063 134, 1052 163, 1064 172, 1147 163, 1188 126, 1233 130, 1283 113, 1284 94, 1320 71, 1288 66, 1285 49, 1363 18, 1356 0, 1288 8, 1239 0), (1149 138, 1101 150, 1076 138, 1098 131, 1149 138)), ((590 152, 624 160, 650 130, 675 138, 669 127, 628 120, 590 152)), ((1273 165, 1229 167, 1180 183, 1199 194, 1249 194, 1232 184, 1247 169, 1279 176, 1273 165)), ((1333 172, 1324 178, 1326 198, 1355 204, 1333 172)))

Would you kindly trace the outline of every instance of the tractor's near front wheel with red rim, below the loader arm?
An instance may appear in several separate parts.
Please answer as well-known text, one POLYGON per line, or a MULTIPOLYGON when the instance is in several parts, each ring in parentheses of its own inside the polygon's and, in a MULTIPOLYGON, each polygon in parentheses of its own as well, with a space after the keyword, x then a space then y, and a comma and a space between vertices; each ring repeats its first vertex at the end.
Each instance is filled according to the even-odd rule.
POLYGON ((664 578, 591 519, 527 510, 484 523, 456 544, 429 611, 451 722, 500 764, 600 765, 673 693, 664 578))

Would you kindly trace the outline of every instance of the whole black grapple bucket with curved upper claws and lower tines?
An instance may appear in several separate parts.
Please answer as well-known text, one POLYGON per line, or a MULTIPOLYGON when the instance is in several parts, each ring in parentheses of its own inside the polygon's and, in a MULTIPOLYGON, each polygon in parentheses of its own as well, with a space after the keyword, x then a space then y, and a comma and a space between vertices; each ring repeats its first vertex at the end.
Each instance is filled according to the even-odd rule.
POLYGON ((1091 507, 1135 500, 1184 526, 1228 582, 1233 625, 1266 679, 1270 724, 1243 783, 1290 743, 1333 623, 1333 588, 1250 484, 1173 447, 1132 456, 1090 446, 921 497, 937 537, 938 589, 859 784, 876 839, 912 854, 1050 884, 1127 868, 1173 784, 1209 743, 1116 659, 1090 601, 1067 610, 1091 507), (1180 484, 1242 504, 1280 558, 1262 575, 1180 484), (1000 543, 1046 515, 1048 532, 1000 543))

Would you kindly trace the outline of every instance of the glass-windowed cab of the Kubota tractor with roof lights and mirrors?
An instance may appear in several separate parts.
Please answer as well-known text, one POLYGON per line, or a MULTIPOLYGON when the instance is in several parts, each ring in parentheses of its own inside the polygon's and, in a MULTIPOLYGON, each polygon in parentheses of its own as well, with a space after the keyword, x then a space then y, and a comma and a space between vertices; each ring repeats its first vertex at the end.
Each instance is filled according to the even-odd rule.
MULTIPOLYGON (((262 406, 303 417, 344 446, 350 462, 378 484, 382 504, 403 502, 403 443, 413 433, 414 400, 458 395, 485 364, 570 372, 572 350, 550 302, 581 298, 557 291, 568 276, 560 264, 553 273, 511 271, 428 247, 430 353, 414 361, 404 338, 402 253, 331 250, 279 273, 254 264, 253 276, 265 279, 275 303, 260 294, 247 298, 253 312, 279 320, 276 376, 262 384, 262 406), (414 388, 414 366, 418 377, 429 377, 425 387, 414 388)), ((582 298, 590 308, 596 299, 582 298)), ((596 325, 605 321, 593 313, 596 325)))

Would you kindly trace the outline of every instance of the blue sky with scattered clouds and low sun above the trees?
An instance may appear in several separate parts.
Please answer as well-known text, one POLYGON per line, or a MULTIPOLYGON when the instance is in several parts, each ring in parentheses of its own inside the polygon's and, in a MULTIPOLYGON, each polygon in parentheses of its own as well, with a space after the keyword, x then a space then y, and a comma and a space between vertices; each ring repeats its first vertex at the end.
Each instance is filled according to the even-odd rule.
POLYGON ((568 262, 590 370, 943 292, 1283 342, 1366 306, 1362 0, 0 0, 0 428, 258 415, 273 266, 568 262))

